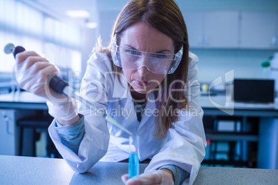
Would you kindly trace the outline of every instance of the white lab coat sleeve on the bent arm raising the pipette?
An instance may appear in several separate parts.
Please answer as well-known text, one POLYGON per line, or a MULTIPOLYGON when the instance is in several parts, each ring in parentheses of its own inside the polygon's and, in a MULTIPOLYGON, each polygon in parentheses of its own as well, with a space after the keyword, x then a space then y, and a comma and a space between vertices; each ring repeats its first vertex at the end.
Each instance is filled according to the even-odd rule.
MULTIPOLYGON (((111 64, 105 54, 94 54, 88 61, 84 78, 82 79, 81 93, 86 102, 96 108, 106 110, 107 97, 113 88, 111 81, 111 64)), ((83 102, 86 104, 86 102, 83 102)), ((109 145, 109 130, 104 117, 95 115, 86 106, 79 105, 79 113, 84 115, 84 137, 80 143, 78 153, 66 147, 55 130, 55 121, 50 124, 48 132, 57 150, 71 168, 78 173, 85 173, 98 162, 106 153, 109 145)))

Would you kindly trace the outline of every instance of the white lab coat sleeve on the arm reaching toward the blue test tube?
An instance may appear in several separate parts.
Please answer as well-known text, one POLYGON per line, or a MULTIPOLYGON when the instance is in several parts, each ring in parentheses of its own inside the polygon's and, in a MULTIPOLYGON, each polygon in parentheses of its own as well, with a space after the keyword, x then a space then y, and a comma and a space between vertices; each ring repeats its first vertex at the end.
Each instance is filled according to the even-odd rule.
POLYGON ((173 164, 190 173, 189 178, 183 184, 193 184, 198 174, 198 169, 205 157, 205 132, 203 128, 203 110, 199 106, 198 95, 200 84, 198 83, 198 57, 189 54, 189 72, 185 96, 189 101, 189 110, 179 112, 178 121, 169 128, 167 142, 154 155, 145 171, 152 171, 160 166, 173 164))

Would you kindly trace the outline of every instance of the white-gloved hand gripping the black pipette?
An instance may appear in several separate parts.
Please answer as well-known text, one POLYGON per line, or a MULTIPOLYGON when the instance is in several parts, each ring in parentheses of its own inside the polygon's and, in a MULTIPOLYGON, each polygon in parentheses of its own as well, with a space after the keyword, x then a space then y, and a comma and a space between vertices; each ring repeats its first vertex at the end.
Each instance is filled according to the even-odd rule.
POLYGON ((46 104, 50 115, 56 117, 63 125, 74 124, 79 120, 73 99, 49 87, 50 78, 58 74, 53 64, 33 51, 18 53, 16 62, 16 78, 19 86, 48 99, 46 104))

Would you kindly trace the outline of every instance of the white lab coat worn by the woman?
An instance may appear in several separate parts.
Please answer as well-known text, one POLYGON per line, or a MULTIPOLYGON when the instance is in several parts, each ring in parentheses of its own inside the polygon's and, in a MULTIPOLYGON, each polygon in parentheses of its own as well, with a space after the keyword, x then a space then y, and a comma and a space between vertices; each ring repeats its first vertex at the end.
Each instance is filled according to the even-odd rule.
MULTIPOLYGON (((111 73, 111 61, 106 54, 95 53, 89 61, 82 81, 82 97, 97 108, 103 108, 118 123, 139 135, 138 155, 140 161, 151 159, 145 171, 156 170, 166 164, 174 164, 190 173, 183 184, 192 184, 200 163, 205 156, 205 133, 203 129, 203 110, 198 104, 200 84, 198 83, 198 57, 189 52, 189 72, 185 95, 190 104, 190 111, 180 112, 178 121, 169 128, 167 137, 158 141, 154 138, 154 97, 149 97, 145 114, 139 122, 134 110, 129 86, 121 76, 111 73)), ((84 173, 96 162, 119 162, 129 157, 129 135, 80 106, 80 113, 85 116, 85 133, 78 155, 64 146, 55 130, 55 119, 48 128, 50 137, 59 153, 73 170, 84 173), (110 139, 109 139, 110 137, 110 139)))

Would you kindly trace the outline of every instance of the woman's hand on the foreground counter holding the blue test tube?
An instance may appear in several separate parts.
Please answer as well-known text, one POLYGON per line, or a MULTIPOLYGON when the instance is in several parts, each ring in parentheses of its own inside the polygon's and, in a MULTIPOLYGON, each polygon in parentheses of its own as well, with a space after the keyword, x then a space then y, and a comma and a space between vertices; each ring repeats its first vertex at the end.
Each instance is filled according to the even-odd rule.
POLYGON ((137 177, 132 177, 130 179, 129 175, 124 174, 122 175, 122 182, 124 182, 124 184, 126 185, 174 184, 173 174, 167 169, 143 173, 137 177))

